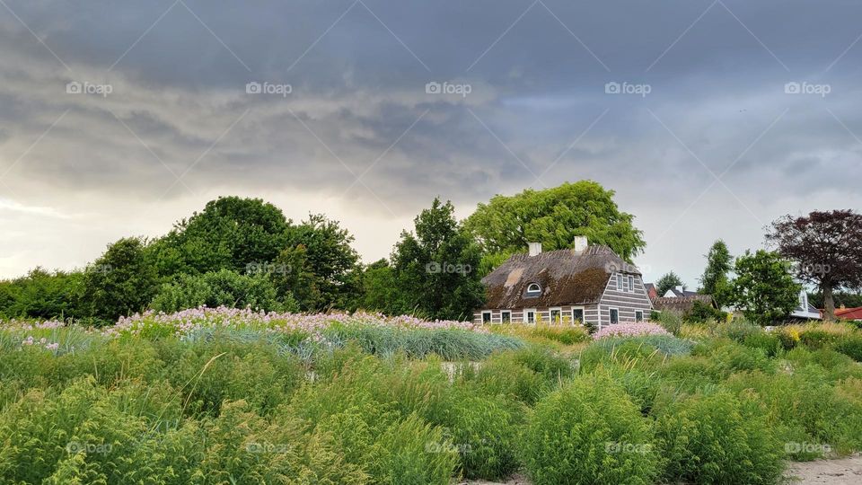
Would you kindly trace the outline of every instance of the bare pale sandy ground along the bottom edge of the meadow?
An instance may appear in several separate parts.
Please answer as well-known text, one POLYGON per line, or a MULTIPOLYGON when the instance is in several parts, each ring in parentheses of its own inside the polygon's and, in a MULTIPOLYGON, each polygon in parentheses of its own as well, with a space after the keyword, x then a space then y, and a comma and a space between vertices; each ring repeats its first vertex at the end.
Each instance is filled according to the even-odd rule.
MULTIPOLYGON (((859 485, 862 484, 862 455, 857 454, 839 460, 789 463, 786 476, 789 483, 793 485, 802 483, 859 485)), ((462 485, 530 485, 530 481, 522 475, 515 475, 503 482, 463 481, 462 485)))

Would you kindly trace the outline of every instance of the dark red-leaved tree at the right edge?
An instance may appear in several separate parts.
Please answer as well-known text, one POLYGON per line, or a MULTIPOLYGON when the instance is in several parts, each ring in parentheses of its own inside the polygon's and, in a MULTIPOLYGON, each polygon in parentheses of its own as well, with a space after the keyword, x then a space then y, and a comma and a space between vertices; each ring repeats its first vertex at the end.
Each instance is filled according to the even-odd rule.
POLYGON ((845 209, 783 216, 766 239, 796 262, 797 278, 822 290, 827 319, 835 318, 833 289, 862 287, 862 215, 845 209))

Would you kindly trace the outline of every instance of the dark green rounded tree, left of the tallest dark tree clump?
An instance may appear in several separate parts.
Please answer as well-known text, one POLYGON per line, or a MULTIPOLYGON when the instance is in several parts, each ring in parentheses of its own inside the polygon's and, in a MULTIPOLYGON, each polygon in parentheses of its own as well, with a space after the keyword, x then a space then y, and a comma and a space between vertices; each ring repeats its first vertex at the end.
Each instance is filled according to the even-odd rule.
POLYGON ((156 269, 145 256, 145 241, 120 239, 84 272, 84 300, 102 323, 144 310, 158 287, 156 269))

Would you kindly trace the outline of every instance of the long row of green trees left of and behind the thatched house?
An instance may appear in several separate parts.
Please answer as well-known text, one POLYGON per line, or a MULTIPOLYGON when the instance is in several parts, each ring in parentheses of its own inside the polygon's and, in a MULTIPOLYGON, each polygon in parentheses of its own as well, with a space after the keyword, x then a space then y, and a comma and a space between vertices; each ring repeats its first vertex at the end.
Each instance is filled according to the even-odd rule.
POLYGON ((484 302, 480 278, 527 242, 554 250, 585 235, 629 261, 643 251, 634 216, 613 196, 594 181, 564 183, 496 196, 462 221, 435 198, 389 258, 367 265, 338 221, 312 214, 295 223, 262 199, 222 197, 161 237, 111 243, 84 269, 36 268, 0 281, 0 318, 104 325, 146 309, 224 304, 469 319, 484 302))

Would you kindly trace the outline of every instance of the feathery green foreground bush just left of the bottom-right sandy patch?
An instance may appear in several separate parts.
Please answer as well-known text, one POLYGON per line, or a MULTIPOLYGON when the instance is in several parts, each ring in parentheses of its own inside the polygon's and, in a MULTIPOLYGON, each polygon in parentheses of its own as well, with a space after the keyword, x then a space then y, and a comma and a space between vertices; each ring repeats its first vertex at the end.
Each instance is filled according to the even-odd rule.
POLYGON ((775 483, 783 471, 781 444, 768 416, 730 392, 692 395, 656 421, 666 481, 775 483))

